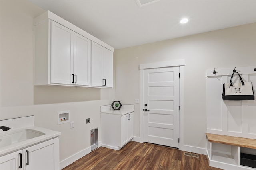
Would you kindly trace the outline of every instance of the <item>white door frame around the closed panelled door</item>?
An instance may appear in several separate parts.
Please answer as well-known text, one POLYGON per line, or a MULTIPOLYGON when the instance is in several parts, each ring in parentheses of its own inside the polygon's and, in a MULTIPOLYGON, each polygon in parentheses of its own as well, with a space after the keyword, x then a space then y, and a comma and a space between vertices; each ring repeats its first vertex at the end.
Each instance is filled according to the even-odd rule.
POLYGON ((140 143, 144 142, 144 69, 174 67, 180 68, 180 122, 179 122, 179 149, 184 145, 184 66, 185 60, 172 60, 157 63, 140 64, 140 143))

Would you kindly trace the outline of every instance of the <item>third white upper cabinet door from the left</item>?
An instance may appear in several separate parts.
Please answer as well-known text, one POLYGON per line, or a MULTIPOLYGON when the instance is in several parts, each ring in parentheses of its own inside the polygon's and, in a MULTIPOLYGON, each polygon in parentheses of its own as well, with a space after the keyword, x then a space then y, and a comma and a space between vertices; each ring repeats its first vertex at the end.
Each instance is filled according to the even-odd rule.
POLYGON ((104 47, 98 45, 97 43, 92 42, 92 86, 103 86, 103 53, 104 47))

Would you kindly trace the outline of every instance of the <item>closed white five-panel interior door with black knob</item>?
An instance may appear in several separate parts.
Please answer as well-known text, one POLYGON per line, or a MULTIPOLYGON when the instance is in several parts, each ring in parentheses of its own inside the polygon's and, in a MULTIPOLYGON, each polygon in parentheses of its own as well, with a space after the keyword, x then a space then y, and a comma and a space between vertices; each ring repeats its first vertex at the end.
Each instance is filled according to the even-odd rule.
POLYGON ((179 67, 144 70, 144 142, 179 147, 179 85, 179 67))

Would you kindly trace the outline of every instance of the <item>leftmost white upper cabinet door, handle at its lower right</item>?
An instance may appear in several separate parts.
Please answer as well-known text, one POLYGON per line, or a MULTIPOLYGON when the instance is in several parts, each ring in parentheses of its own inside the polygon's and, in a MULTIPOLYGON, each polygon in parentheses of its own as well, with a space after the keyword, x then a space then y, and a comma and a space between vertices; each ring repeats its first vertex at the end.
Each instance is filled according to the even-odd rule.
POLYGON ((51 21, 51 83, 71 84, 74 31, 51 21))

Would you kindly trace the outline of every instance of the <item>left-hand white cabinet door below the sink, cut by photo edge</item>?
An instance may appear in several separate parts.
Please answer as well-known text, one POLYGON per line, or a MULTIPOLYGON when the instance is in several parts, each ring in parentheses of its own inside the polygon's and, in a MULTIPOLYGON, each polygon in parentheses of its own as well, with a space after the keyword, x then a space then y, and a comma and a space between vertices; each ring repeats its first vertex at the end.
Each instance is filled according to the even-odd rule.
POLYGON ((0 170, 22 170, 22 150, 0 157, 0 170))

